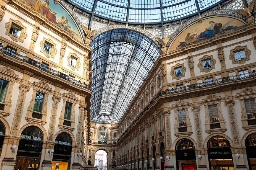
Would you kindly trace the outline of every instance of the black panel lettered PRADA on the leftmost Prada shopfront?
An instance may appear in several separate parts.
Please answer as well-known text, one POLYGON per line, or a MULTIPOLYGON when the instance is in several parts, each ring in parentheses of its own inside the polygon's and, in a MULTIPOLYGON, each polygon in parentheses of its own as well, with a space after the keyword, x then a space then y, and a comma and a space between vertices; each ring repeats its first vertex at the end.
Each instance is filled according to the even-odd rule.
POLYGON ((41 152, 43 142, 38 140, 20 139, 18 150, 41 152))

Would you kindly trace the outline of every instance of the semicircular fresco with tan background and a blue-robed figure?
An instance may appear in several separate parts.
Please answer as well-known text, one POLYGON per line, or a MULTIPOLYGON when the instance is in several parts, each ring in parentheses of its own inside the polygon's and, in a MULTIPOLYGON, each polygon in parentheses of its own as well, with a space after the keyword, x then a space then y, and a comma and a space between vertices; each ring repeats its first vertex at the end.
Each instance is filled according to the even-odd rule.
POLYGON ((169 51, 176 50, 188 45, 206 40, 218 35, 239 30, 247 25, 230 17, 213 17, 197 22, 183 30, 170 45, 169 51))

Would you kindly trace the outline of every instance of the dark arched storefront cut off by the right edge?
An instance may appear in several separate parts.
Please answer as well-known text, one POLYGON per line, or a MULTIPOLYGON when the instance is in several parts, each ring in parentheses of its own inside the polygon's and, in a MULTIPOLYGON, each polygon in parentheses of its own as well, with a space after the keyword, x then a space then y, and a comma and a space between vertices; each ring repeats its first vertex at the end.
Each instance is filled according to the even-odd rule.
POLYGON ((249 170, 256 170, 256 133, 249 135, 245 140, 249 170))

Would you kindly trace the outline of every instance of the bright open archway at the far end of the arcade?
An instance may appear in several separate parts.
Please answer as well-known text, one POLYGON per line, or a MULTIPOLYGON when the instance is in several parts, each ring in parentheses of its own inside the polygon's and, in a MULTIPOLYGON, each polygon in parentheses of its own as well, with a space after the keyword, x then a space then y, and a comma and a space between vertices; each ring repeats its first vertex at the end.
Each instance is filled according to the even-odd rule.
POLYGON ((107 169, 107 152, 104 150, 99 150, 95 153, 94 166, 98 170, 108 170, 107 169))

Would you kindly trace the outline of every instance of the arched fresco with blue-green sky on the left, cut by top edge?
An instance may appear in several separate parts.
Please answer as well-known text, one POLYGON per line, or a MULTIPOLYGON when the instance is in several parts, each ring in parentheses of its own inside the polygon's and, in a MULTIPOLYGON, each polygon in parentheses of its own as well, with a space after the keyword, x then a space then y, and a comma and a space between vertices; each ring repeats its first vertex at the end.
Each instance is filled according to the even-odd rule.
POLYGON ((63 28, 77 39, 81 39, 75 22, 59 4, 54 4, 54 1, 52 0, 22 0, 22 2, 28 5, 31 10, 40 13, 49 21, 56 24, 58 27, 63 28))

